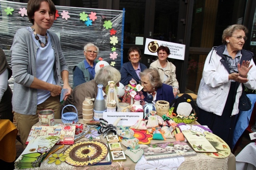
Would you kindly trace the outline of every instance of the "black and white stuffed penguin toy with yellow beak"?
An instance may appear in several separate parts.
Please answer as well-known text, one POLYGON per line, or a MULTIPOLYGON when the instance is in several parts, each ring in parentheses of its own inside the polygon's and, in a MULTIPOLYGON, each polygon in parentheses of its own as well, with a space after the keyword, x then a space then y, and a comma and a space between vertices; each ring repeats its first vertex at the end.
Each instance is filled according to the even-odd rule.
POLYGON ((172 100, 170 106, 174 107, 173 113, 177 115, 189 116, 191 113, 198 113, 198 107, 194 104, 194 100, 186 93, 172 100))

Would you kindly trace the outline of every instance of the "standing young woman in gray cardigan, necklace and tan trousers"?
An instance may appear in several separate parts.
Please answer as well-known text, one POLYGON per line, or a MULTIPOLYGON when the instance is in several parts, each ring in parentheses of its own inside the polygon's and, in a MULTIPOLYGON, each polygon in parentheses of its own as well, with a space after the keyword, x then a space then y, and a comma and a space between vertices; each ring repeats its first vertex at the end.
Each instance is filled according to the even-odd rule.
POLYGON ((61 78, 63 88, 68 89, 64 100, 72 90, 60 40, 48 31, 56 14, 53 2, 29 0, 27 14, 33 25, 18 29, 11 47, 12 107, 24 146, 31 127, 38 122, 38 111, 52 109, 55 119, 60 119, 61 78))

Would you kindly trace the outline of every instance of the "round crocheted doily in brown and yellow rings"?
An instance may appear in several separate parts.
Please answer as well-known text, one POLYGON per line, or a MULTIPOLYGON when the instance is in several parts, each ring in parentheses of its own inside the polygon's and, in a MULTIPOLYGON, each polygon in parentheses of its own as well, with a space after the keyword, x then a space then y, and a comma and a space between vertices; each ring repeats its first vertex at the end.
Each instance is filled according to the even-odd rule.
POLYGON ((65 151, 66 163, 72 166, 90 166, 102 161, 108 147, 100 141, 83 141, 70 145, 65 151))

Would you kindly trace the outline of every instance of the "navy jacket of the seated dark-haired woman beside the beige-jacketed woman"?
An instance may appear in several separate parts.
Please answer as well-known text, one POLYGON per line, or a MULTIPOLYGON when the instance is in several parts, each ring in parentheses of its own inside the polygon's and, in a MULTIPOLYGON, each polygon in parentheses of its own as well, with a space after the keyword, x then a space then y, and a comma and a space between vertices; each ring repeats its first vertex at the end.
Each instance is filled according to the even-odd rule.
MULTIPOLYGON (((147 66, 145 66, 142 63, 140 64, 140 72, 142 72, 143 70, 145 70, 147 68, 147 66)), ((136 71, 134 70, 132 63, 129 61, 128 63, 124 63, 120 69, 120 73, 121 73, 121 80, 120 82, 126 86, 127 84, 129 84, 130 80, 132 80, 132 78, 137 82, 137 84, 139 84, 140 78, 138 77, 138 75, 136 74, 136 71)))

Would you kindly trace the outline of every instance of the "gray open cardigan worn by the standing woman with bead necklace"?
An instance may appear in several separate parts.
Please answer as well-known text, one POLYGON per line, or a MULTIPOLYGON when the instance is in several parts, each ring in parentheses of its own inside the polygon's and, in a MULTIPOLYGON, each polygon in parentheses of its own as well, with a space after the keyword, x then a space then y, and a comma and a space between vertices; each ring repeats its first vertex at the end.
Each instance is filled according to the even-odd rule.
MULTIPOLYGON (((13 111, 24 115, 35 115, 37 107, 37 89, 30 88, 36 76, 36 52, 38 46, 34 42, 30 27, 18 29, 14 35, 12 51, 12 75, 14 77, 14 92, 12 96, 13 111)), ((61 86, 61 72, 68 70, 63 56, 60 40, 56 33, 48 31, 52 48, 54 49, 54 79, 61 86)))

